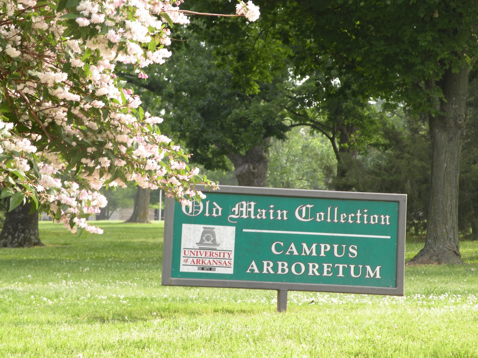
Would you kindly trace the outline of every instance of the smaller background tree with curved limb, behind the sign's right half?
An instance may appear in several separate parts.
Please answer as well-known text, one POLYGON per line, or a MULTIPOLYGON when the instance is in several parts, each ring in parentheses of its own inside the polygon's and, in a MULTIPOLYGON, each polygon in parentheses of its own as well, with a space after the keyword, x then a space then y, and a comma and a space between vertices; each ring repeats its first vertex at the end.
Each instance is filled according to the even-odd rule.
POLYGON ((329 64, 291 88, 288 96, 290 101, 284 108, 291 127, 308 126, 324 135, 332 146, 337 160, 333 188, 357 190, 348 171, 360 151, 384 142, 381 136, 387 125, 386 116, 367 94, 357 90, 352 78, 338 74, 329 64))

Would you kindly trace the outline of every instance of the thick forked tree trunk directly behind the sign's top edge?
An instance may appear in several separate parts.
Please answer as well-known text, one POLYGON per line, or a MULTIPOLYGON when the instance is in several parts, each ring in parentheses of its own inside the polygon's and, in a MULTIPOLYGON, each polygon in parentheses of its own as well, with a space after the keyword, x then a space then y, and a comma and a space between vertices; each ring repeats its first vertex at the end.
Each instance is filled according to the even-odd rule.
POLYGON ((266 144, 250 148, 246 155, 229 153, 228 158, 234 165, 234 174, 240 186, 265 187, 267 178, 267 165, 269 163, 269 149, 266 144))

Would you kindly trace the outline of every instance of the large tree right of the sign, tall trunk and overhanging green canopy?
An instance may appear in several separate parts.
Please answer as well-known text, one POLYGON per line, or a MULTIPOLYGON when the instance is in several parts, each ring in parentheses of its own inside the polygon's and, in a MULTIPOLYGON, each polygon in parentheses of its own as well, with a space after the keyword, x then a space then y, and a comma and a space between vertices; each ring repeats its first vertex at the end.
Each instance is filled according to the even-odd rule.
POLYGON ((478 50, 475 1, 331 0, 299 8, 278 0, 261 8, 284 14, 276 20, 305 67, 328 56, 358 88, 427 118, 433 153, 428 230, 412 261, 461 263, 458 172, 468 75, 478 50))

